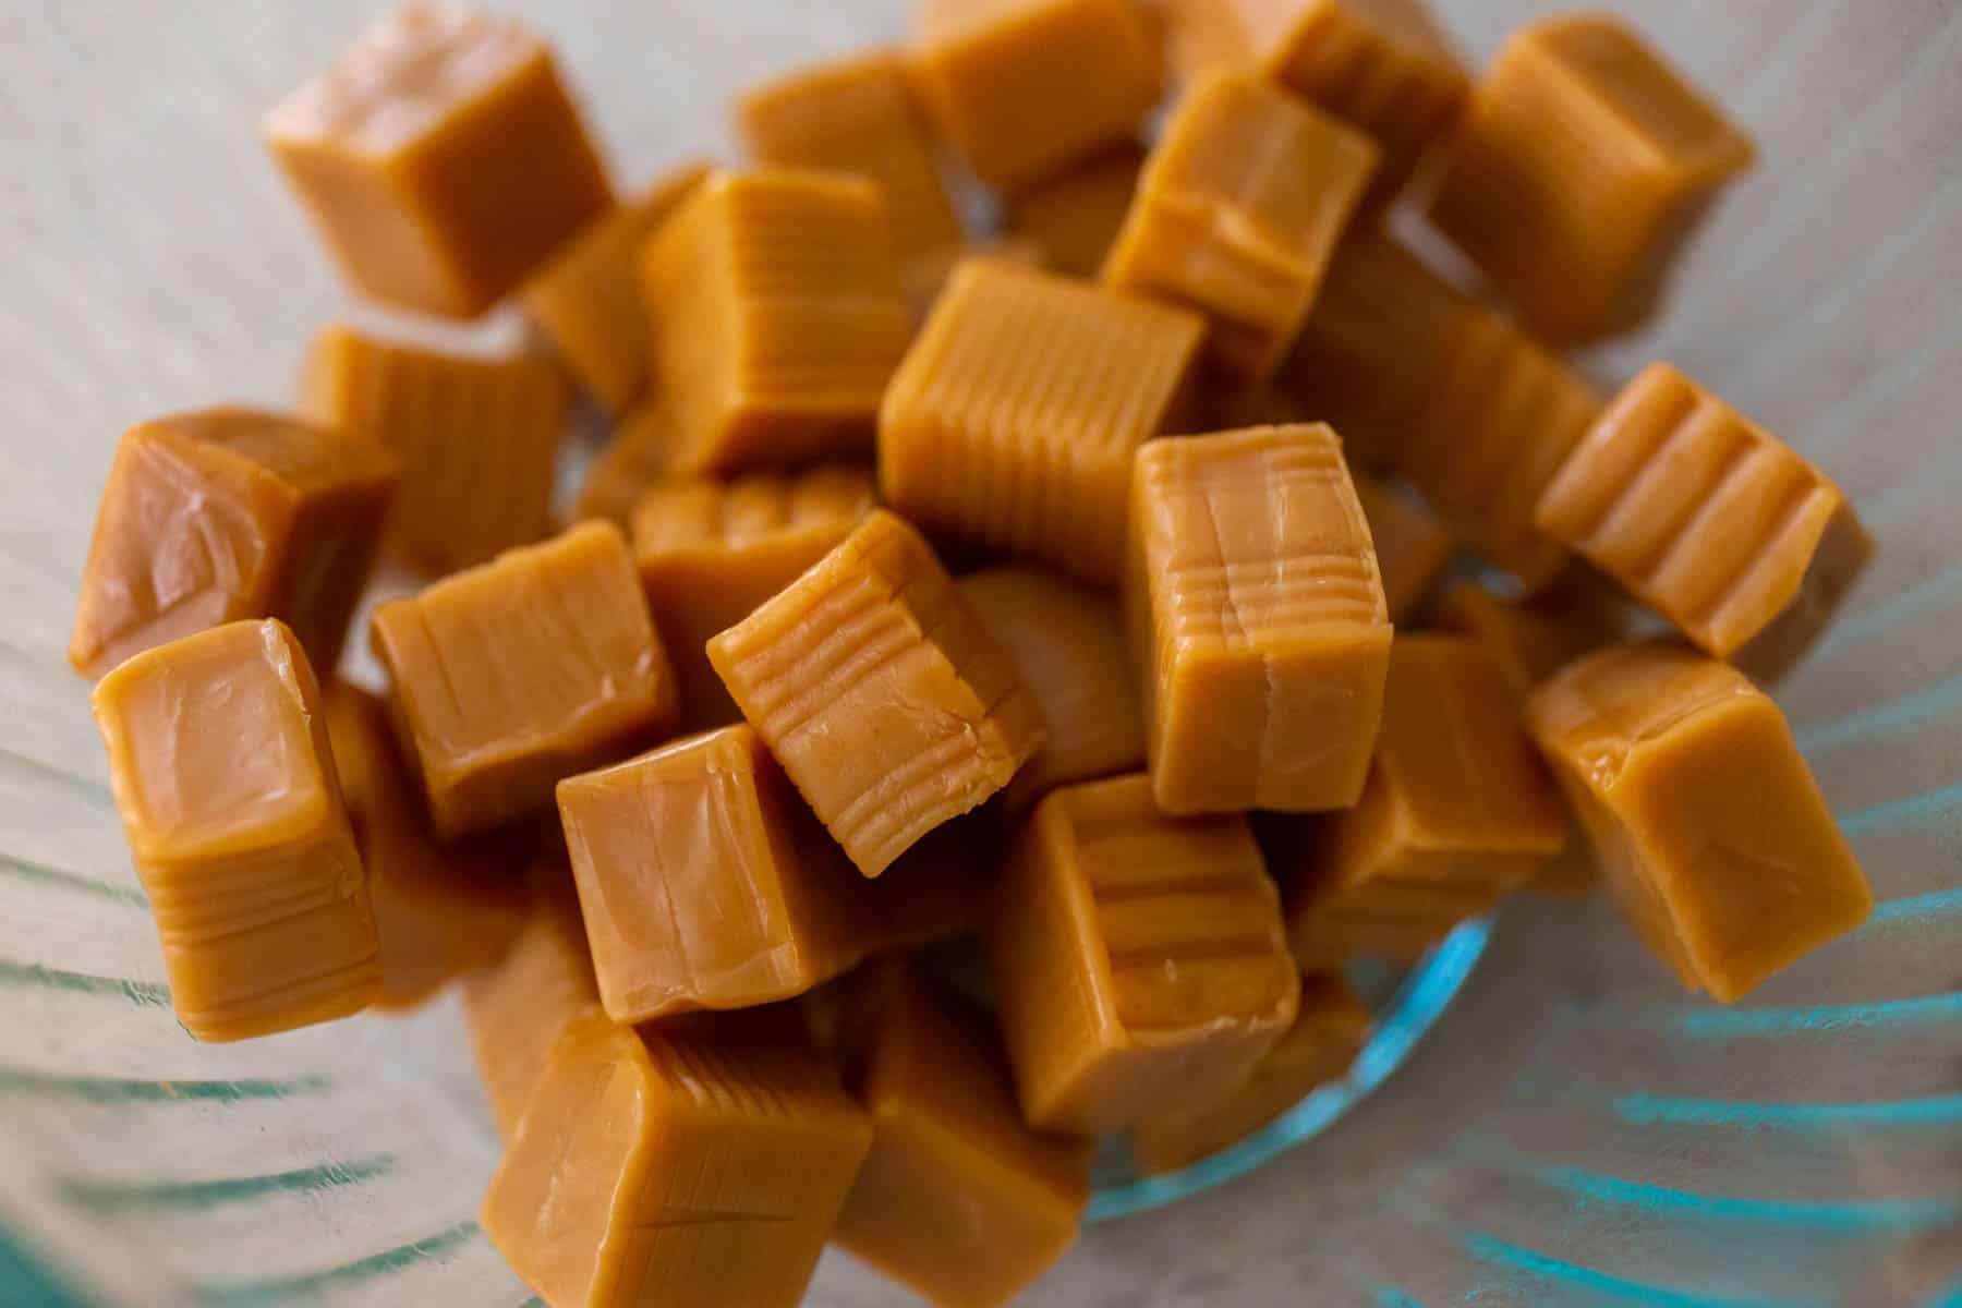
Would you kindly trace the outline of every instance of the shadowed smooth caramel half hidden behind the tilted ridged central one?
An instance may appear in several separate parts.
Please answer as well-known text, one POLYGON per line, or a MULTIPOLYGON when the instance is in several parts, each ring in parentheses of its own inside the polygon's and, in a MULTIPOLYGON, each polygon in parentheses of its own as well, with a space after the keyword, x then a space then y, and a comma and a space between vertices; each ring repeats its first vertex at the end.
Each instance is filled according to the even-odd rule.
POLYGON ((1144 767, 1138 692, 1116 602, 1034 567, 997 567, 955 582, 1028 686, 1048 743, 1008 782, 1010 814, 1077 780, 1144 767))

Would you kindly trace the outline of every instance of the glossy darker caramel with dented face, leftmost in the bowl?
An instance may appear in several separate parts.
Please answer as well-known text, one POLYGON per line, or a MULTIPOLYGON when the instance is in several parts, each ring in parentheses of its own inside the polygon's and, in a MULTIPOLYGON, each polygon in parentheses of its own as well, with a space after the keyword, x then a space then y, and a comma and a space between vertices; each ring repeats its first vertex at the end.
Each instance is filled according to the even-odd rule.
POLYGON ((247 408, 175 414, 116 445, 69 663, 279 618, 332 671, 375 563, 398 463, 381 445, 247 408))

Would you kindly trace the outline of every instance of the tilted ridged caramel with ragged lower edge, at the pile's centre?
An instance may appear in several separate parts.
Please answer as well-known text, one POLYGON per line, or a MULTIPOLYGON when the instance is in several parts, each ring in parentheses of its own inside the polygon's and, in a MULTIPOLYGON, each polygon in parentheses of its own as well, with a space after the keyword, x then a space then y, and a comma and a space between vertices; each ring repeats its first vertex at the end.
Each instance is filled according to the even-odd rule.
POLYGON ((867 877, 1044 741, 1008 655, 887 512, 708 641, 708 661, 867 877))

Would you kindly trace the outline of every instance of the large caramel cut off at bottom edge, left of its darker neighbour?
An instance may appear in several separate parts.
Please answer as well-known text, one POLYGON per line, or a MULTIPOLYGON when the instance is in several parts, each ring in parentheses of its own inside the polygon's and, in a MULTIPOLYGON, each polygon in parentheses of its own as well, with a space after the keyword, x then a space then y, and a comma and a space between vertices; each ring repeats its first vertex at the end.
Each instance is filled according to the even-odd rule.
POLYGON ((810 1051, 589 1010, 479 1220, 555 1308, 795 1308, 869 1145, 810 1051))

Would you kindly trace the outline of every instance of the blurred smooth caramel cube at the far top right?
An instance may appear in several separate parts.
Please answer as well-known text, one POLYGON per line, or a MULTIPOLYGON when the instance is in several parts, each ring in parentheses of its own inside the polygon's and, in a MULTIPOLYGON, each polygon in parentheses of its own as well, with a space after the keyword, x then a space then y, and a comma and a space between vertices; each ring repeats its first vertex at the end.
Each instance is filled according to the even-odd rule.
POLYGON ((1479 82, 1430 222, 1538 331, 1640 324, 1750 137, 1619 18, 1515 31, 1479 82))

